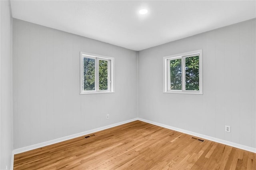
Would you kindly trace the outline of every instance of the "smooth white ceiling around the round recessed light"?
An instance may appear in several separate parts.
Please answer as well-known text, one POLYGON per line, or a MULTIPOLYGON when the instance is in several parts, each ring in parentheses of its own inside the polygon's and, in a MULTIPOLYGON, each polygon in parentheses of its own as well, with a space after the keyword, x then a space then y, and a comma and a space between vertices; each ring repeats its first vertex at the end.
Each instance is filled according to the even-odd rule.
POLYGON ((136 51, 256 18, 255 0, 11 0, 11 7, 14 18, 136 51))

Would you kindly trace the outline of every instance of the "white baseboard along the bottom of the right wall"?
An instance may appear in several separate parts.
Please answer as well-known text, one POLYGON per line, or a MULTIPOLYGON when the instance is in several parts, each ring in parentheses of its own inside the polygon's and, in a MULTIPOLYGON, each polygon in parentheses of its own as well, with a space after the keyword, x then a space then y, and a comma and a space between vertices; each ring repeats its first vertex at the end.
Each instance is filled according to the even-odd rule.
POLYGON ((153 121, 148 121, 148 120, 142 119, 142 118, 138 118, 138 120, 146 122, 146 123, 150 123, 152 125, 157 125, 157 126, 168 128, 168 129, 175 130, 175 131, 178 131, 178 132, 186 133, 186 134, 189 134, 189 135, 192 135, 192 136, 196 136, 196 137, 204 138, 204 139, 207 139, 207 140, 211 140, 213 142, 218 142, 218 143, 221 143, 221 144, 226 144, 228 146, 232 146, 232 147, 235 147, 235 148, 239 148, 239 149, 243 149, 243 150, 247 150, 247 151, 256 153, 256 148, 252 148, 250 146, 245 146, 245 145, 242 145, 242 144, 237 144, 237 143, 234 143, 234 142, 229 142, 227 140, 222 140, 222 139, 219 139, 219 138, 214 138, 214 137, 211 137, 211 136, 206 136, 204 134, 199 134, 199 133, 196 133, 196 132, 191 132, 191 131, 188 131, 188 130, 184 130, 184 129, 181 129, 181 128, 176 128, 176 127, 164 125, 164 124, 153 122, 153 121))

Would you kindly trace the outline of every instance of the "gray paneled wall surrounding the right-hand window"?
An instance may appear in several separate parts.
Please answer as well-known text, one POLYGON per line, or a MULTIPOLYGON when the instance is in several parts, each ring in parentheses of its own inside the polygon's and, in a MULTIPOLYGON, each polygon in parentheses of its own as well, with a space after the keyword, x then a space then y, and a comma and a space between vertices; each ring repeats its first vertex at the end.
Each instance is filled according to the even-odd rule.
POLYGON ((139 117, 255 148, 255 22, 139 51, 139 117), (163 93, 163 57, 197 49, 203 95, 163 93))

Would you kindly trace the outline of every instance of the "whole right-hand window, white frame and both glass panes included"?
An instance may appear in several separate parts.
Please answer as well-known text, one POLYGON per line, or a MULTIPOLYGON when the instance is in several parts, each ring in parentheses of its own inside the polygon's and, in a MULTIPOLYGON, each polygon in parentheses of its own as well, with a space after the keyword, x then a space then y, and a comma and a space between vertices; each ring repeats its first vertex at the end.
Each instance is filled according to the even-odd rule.
POLYGON ((164 93, 202 94, 202 50, 164 57, 164 93))

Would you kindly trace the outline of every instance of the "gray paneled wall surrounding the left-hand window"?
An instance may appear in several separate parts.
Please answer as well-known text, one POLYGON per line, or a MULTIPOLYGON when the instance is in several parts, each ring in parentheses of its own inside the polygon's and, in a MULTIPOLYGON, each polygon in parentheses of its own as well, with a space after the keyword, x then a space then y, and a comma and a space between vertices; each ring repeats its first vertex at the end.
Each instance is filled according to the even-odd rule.
POLYGON ((13 20, 14 148, 136 118, 137 84, 136 51, 13 20), (115 93, 80 95, 80 51, 115 58, 115 93))

